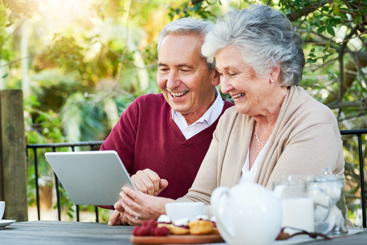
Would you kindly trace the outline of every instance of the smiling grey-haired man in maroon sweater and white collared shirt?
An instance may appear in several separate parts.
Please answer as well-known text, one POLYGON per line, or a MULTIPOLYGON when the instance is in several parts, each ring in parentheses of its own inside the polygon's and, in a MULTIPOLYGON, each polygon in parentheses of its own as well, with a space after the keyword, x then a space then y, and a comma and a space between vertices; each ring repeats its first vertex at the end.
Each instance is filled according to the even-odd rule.
MULTIPOLYGON (((219 117, 233 105, 219 95, 215 65, 201 55, 213 27, 210 21, 182 18, 161 30, 157 84, 162 93, 135 99, 101 146, 117 151, 146 194, 176 199, 188 192, 219 117)), ((109 225, 129 219, 115 211, 109 225)))

